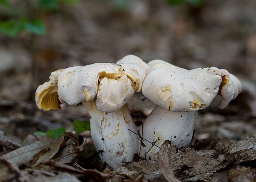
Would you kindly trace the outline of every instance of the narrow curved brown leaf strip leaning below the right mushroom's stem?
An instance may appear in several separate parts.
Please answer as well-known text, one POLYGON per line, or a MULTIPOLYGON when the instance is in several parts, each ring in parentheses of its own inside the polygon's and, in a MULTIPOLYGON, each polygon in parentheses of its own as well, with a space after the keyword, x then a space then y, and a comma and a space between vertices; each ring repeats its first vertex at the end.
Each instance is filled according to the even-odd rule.
POLYGON ((169 157, 168 157, 168 145, 169 145, 169 141, 166 140, 160 147, 160 151, 159 154, 157 155, 157 164, 161 170, 161 173, 164 175, 164 177, 166 178, 166 180, 168 182, 181 182, 180 180, 178 180, 172 169, 170 168, 170 164, 169 164, 169 157))

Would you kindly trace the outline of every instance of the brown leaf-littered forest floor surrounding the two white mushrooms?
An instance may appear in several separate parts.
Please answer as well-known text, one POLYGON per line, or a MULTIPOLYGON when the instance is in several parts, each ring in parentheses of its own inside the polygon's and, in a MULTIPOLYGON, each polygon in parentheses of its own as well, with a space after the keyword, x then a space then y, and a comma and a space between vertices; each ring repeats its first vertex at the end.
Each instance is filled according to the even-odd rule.
POLYGON ((30 156, 18 152, 15 163, 0 158, 0 181, 171 181, 173 174, 181 181, 256 181, 256 1, 205 0, 194 7, 130 0, 124 9, 109 2, 84 0, 39 14, 47 34, 33 37, 33 44, 27 32, 15 38, 0 34, 1 155, 24 145, 29 152, 42 149, 27 151, 30 156), (89 120, 83 105, 44 112, 34 93, 52 71, 116 62, 128 54, 186 69, 227 69, 241 81, 242 92, 223 110, 216 98, 197 113, 191 148, 171 147, 165 153, 163 144, 162 159, 135 160, 111 171, 100 162, 90 137, 85 143, 69 133, 73 120, 89 120), (63 140, 34 135, 61 127, 68 132, 63 140), (68 138, 76 143, 66 143, 68 138), (44 142, 30 145, 36 141, 44 142), (51 154, 43 150, 49 147, 51 154), (47 160, 37 166, 27 161, 36 154, 47 160))

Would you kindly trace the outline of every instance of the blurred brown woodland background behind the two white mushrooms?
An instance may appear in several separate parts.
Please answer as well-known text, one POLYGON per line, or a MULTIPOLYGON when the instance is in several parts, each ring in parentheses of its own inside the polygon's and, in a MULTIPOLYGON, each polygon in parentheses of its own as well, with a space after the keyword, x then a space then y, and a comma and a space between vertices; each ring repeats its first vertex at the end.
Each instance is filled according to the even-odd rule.
POLYGON ((87 117, 83 106, 45 113, 34 102, 50 73, 134 54, 235 74, 243 92, 200 112, 196 139, 256 133, 256 1, 0 0, 0 129, 25 138, 87 117))

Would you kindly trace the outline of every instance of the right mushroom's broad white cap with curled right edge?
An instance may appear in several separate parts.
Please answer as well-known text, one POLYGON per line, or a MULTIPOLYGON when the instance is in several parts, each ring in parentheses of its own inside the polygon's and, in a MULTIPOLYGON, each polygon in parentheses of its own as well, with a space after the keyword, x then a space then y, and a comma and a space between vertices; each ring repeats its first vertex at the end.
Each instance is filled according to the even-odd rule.
POLYGON ((142 94, 168 111, 204 109, 219 90, 224 100, 220 106, 223 107, 233 98, 235 90, 239 92, 240 89, 238 79, 232 76, 231 80, 235 82, 232 83, 228 71, 216 67, 187 70, 162 60, 152 60, 148 65, 151 69, 142 85, 142 94))

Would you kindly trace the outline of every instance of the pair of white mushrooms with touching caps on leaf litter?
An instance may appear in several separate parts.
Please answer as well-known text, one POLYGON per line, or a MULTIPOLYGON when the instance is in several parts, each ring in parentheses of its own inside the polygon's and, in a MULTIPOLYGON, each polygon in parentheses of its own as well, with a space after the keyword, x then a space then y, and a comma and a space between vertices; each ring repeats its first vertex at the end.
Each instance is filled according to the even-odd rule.
POLYGON ((192 140, 196 111, 209 106, 217 94, 222 97, 219 108, 224 108, 241 88, 239 80, 224 69, 187 70, 127 55, 115 64, 54 71, 35 96, 44 111, 82 102, 100 158, 116 168, 132 161, 136 153, 152 159, 165 140, 185 149, 192 140), (142 124, 135 124, 134 111, 147 115, 142 124))

